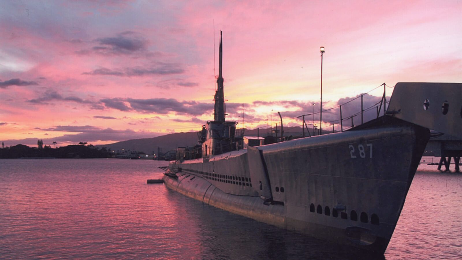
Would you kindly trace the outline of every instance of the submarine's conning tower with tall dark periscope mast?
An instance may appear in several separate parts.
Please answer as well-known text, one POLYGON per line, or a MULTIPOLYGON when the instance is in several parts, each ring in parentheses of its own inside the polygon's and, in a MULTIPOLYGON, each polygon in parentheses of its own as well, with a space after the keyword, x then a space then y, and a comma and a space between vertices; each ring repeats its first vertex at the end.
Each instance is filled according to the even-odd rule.
POLYGON ((223 68, 223 41, 220 31, 219 46, 219 74, 217 79, 217 91, 215 92, 215 107, 213 109, 213 121, 207 122, 206 140, 202 143, 202 158, 219 155, 225 152, 236 150, 236 122, 225 121, 225 93, 222 74, 223 68))

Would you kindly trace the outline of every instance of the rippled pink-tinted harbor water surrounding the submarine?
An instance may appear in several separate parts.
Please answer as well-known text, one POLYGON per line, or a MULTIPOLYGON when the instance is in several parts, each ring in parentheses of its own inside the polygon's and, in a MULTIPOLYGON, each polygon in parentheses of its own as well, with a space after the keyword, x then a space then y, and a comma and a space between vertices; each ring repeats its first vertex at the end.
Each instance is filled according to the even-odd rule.
MULTIPOLYGON (((164 161, 0 160, 0 258, 343 259, 358 252, 146 184, 164 161)), ((454 166, 452 166, 454 167, 454 166)), ((386 259, 462 258, 462 174, 425 164, 386 259)))

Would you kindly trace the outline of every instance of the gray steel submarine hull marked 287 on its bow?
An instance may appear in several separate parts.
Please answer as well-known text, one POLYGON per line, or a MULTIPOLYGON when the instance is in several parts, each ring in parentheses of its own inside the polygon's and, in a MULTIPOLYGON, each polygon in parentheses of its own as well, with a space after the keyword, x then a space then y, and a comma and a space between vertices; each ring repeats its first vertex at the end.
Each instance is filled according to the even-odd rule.
POLYGON ((427 141, 416 125, 371 124, 170 162, 176 178, 164 182, 235 214, 383 254, 427 141))

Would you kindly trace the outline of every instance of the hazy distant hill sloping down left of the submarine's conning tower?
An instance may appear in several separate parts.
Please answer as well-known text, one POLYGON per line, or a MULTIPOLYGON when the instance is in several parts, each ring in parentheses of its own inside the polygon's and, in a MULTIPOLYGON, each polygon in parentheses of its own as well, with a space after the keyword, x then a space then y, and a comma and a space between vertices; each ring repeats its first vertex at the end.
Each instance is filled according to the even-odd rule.
POLYGON ((153 138, 142 138, 142 139, 132 139, 122 142, 115 142, 110 144, 97 145, 98 148, 106 147, 109 150, 114 150, 117 152, 124 151, 141 151, 146 154, 157 154, 157 149, 160 147, 163 153, 168 152, 169 150, 174 150, 178 146, 189 146, 192 147, 197 142, 197 133, 188 132, 188 133, 174 133, 164 136, 157 136, 153 138))

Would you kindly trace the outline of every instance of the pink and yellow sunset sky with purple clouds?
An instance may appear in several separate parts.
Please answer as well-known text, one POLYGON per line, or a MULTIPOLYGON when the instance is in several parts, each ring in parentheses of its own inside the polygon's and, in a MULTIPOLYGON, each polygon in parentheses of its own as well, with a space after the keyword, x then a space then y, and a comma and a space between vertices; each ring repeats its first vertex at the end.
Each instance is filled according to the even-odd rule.
POLYGON ((238 127, 243 103, 250 129, 277 123, 277 111, 288 125, 311 113, 320 46, 323 108, 383 82, 461 82, 461 14, 460 0, 5 0, 0 138, 96 145, 200 130, 213 119, 219 30, 238 127))

